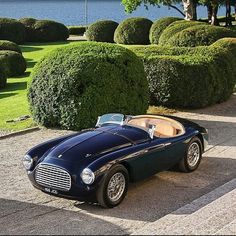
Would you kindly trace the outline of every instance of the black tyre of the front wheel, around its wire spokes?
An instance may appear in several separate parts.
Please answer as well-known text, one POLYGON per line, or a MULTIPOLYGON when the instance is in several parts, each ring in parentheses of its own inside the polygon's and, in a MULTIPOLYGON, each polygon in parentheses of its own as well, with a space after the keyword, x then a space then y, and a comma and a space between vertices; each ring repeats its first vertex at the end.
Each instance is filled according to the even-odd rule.
MULTIPOLYGON (((117 175, 116 175, 117 176, 117 175)), ((123 178, 122 177, 122 178, 123 178)), ((128 190, 128 183, 129 183, 129 173, 127 169, 120 164, 117 164, 113 166, 109 172, 104 176, 98 190, 97 190, 97 201, 98 203, 105 207, 105 208, 113 208, 115 206, 118 206, 125 198, 127 190, 128 190), (121 196, 119 199, 112 201, 110 197, 108 196, 108 184, 112 177, 114 177, 116 174, 119 176, 124 177, 125 186, 124 190, 122 191, 121 196)))

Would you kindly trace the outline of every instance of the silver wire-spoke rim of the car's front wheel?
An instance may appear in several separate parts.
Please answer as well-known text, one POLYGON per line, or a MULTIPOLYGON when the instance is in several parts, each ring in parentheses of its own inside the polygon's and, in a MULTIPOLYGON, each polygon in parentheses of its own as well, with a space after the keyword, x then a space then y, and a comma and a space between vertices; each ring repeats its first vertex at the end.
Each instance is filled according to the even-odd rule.
POLYGON ((107 187, 107 196, 112 202, 118 201, 125 191, 125 177, 121 172, 114 174, 107 187))

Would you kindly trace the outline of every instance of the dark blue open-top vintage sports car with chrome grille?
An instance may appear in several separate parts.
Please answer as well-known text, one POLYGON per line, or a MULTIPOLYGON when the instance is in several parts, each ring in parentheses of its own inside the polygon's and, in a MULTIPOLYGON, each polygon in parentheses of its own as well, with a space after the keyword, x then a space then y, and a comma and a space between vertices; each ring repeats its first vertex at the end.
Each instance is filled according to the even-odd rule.
POLYGON ((174 116, 105 114, 95 128, 29 150, 23 164, 33 186, 59 197, 115 207, 128 183, 172 167, 198 168, 205 128, 174 116))

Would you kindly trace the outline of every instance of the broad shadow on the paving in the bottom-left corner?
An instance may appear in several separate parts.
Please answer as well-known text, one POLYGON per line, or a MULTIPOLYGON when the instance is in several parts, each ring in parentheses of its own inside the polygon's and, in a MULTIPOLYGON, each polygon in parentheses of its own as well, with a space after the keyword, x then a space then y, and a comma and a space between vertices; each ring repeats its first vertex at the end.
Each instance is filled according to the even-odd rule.
POLYGON ((3 235, 128 234, 115 224, 82 212, 3 198, 0 198, 0 231, 3 235))

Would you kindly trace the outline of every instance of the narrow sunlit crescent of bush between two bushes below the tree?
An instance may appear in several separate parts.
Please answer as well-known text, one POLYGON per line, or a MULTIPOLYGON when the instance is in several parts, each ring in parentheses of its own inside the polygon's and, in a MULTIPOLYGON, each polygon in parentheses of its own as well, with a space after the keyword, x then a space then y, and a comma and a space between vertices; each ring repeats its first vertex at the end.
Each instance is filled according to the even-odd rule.
POLYGON ((175 21, 171 23, 168 27, 166 27, 166 29, 162 32, 159 38, 159 44, 163 46, 169 45, 169 41, 174 37, 175 34, 189 27, 202 24, 204 23, 198 21, 187 21, 187 20, 175 21))

